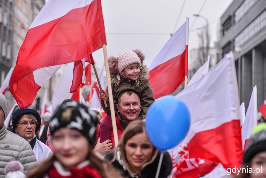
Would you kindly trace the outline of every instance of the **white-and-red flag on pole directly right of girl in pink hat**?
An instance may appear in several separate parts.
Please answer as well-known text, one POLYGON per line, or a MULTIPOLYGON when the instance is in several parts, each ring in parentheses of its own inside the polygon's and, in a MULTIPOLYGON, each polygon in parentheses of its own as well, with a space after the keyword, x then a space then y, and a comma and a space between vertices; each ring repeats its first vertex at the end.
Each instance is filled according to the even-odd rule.
POLYGON ((154 98, 173 93, 187 76, 188 18, 149 66, 154 98))

